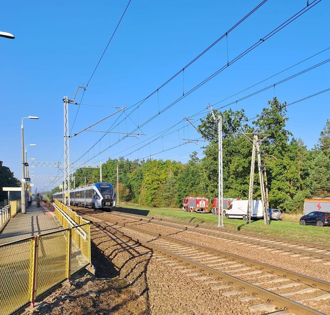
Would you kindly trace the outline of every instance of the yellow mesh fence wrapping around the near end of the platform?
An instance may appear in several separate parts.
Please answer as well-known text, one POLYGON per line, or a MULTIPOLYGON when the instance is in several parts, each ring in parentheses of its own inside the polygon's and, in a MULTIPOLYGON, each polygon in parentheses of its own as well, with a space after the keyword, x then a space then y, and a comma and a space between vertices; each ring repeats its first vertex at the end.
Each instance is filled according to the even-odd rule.
MULTIPOLYGON (((55 211, 63 230, 0 245, 0 315, 11 314, 90 264, 90 223, 76 213, 68 226, 62 206, 55 211), (61 209, 62 209, 61 208, 61 209)), ((56 207, 55 207, 56 209, 56 207)))

